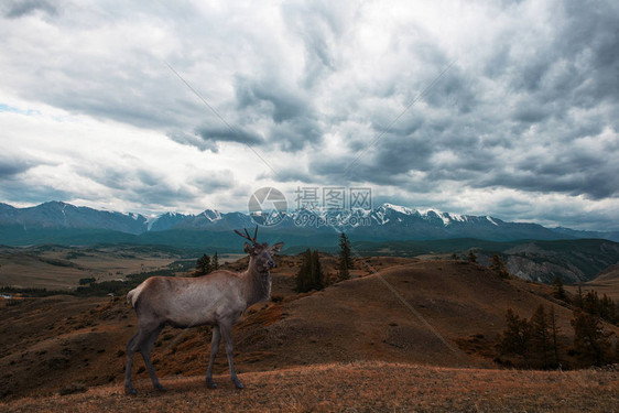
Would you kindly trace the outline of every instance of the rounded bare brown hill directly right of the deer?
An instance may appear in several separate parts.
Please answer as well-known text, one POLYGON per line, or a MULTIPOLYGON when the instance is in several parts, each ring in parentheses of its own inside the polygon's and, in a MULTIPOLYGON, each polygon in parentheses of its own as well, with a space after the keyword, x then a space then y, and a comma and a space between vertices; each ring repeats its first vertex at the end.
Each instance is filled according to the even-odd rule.
POLYGON ((564 345, 572 344, 572 311, 540 296, 540 287, 463 261, 417 261, 249 316, 236 339, 239 349, 261 355, 256 363, 264 367, 368 359, 491 366, 510 307, 529 318, 540 304, 554 306, 564 345), (259 316, 270 324, 248 329, 259 316), (479 351, 467 344, 474 336, 479 351))

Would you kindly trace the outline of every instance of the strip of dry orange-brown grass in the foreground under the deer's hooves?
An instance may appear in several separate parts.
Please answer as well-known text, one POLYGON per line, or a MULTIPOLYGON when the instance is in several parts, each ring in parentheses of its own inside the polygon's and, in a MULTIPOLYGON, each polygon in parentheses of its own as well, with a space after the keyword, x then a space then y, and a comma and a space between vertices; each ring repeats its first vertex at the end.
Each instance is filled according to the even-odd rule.
POLYGON ((219 377, 169 378, 165 393, 137 383, 139 395, 118 385, 85 393, 26 398, 0 404, 3 412, 389 411, 611 412, 619 407, 615 371, 542 372, 453 369, 388 362, 330 363, 240 376, 246 390, 219 377))

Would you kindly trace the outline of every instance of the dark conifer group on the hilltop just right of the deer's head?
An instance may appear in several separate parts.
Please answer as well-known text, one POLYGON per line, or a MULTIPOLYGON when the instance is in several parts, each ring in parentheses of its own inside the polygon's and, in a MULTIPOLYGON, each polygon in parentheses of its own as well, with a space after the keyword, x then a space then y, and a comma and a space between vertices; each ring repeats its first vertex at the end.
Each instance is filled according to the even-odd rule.
POLYGON ((301 268, 296 273, 296 291, 307 293, 312 290, 323 290, 336 282, 350 279, 354 267, 350 240, 344 232, 339 236, 339 254, 337 274, 325 274, 321 265, 318 250, 305 250, 301 268))

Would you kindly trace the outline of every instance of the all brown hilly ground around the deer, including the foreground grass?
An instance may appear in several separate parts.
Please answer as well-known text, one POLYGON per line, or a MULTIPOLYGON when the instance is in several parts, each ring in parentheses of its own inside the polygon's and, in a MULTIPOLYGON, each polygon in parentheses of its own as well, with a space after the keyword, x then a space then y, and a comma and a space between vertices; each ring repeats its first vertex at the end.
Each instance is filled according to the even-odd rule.
MULTIPOLYGON (((152 390, 137 357, 139 395, 126 396, 124 346, 137 317, 124 297, 56 295, 0 307, 0 410, 619 409, 613 369, 524 371, 493 361, 508 307, 529 318, 540 304, 554 306, 562 344, 572 345, 572 309, 550 298, 546 285, 463 261, 381 257, 357 260, 351 280, 296 294, 298 263, 279 257, 272 301, 249 308, 235 327, 243 391, 234 390, 222 349, 220 389, 206 389, 208 327, 166 327, 153 365, 169 392, 152 390)), ((322 263, 335 273, 335 258, 322 263)))

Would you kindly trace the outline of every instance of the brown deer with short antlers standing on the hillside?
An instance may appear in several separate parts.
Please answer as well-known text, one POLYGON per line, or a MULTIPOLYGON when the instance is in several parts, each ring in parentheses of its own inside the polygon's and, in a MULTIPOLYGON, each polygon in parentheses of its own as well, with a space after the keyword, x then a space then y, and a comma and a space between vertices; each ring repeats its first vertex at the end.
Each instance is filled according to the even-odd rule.
MULTIPOLYGON (((245 228, 243 228, 245 229, 245 228)), ((133 356, 140 351, 155 390, 165 391, 160 383, 153 365, 151 350, 165 325, 188 328, 209 325, 213 327, 210 358, 206 371, 206 385, 217 389, 213 381, 213 363, 224 338, 230 379, 237 389, 243 389, 235 370, 232 324, 239 320, 247 308, 256 303, 268 301, 271 295, 271 269, 275 262, 271 254, 279 252, 283 242, 258 243, 258 226, 253 237, 247 229, 245 233, 235 232, 247 239, 245 252, 249 264, 243 272, 218 270, 199 278, 151 276, 127 294, 128 303, 138 315, 138 332, 127 343, 124 369, 124 391, 135 395, 131 384, 133 356)))

